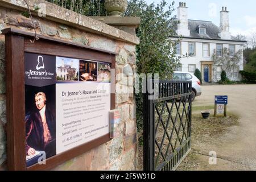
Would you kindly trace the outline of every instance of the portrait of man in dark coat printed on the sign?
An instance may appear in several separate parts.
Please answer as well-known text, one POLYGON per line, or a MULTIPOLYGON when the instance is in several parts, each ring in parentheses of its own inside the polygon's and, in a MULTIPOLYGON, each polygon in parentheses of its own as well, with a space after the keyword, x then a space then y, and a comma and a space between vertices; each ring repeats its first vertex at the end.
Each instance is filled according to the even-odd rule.
POLYGON ((26 122, 26 154, 35 155, 44 151, 46 158, 56 155, 56 121, 47 107, 47 97, 44 92, 35 94, 35 111, 30 111, 26 122))

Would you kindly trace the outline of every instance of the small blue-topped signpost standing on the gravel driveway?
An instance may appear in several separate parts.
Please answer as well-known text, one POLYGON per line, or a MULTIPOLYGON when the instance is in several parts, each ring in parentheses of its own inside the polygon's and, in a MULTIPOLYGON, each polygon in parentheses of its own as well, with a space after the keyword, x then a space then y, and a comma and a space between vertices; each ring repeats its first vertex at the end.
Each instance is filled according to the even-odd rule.
POLYGON ((227 116, 227 107, 228 105, 228 96, 215 96, 215 107, 214 107, 214 117, 217 116, 217 114, 224 114, 224 117, 227 116))

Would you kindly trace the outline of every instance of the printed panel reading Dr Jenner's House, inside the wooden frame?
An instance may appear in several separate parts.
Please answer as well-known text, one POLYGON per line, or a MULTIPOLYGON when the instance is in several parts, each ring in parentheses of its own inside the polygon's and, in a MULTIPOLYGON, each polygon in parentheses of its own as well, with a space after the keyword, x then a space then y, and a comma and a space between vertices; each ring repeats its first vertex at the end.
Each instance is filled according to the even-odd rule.
POLYGON ((25 53, 27 167, 109 133, 111 64, 25 53))

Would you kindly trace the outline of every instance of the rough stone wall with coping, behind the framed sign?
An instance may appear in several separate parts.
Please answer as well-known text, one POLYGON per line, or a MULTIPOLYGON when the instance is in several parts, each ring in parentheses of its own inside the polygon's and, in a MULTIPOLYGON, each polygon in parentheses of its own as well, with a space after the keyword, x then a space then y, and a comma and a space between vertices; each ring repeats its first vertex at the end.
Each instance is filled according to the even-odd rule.
MULTIPOLYGON (((77 15, 51 3, 28 1, 30 9, 35 4, 46 3, 45 17, 34 12, 38 34, 68 40, 119 53, 116 57, 116 108, 121 111, 117 138, 91 151, 61 164, 53 170, 134 170, 137 166, 137 127, 133 95, 135 46, 139 39, 125 31, 86 16, 77 15), (66 18, 62 16, 66 15, 66 18), (79 16, 80 24, 77 24, 79 16), (127 90, 130 92, 128 93, 127 90)), ((0 1, 0 33, 3 28, 15 27, 32 32, 31 20, 22 16, 23 1, 0 1)), ((122 29, 125 25, 122 25, 122 29)), ((130 30, 130 27, 129 27, 130 30)), ((0 170, 6 167, 6 88, 5 88, 5 36, 0 35, 0 170)))

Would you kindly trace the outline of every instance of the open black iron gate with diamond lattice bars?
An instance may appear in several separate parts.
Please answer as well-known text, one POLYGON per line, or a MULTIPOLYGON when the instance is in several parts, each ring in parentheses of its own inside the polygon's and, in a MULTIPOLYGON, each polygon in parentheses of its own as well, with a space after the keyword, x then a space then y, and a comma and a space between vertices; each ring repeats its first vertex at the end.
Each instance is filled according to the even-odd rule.
POLYGON ((158 89, 144 94, 144 170, 175 170, 191 150, 192 83, 150 82, 158 89))

